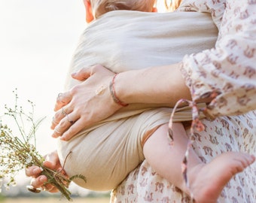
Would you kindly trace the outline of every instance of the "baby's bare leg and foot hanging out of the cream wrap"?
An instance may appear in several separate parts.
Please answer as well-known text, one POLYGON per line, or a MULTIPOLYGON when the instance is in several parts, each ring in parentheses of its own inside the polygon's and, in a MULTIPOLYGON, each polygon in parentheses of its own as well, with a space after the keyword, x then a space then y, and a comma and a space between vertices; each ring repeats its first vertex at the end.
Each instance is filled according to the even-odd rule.
POLYGON ((197 202, 216 202, 227 182, 252 162, 254 157, 245 153, 229 152, 217 156, 212 162, 201 162, 190 149, 187 165, 188 189, 182 175, 181 164, 187 150, 187 135, 181 123, 173 123, 174 144, 169 143, 168 125, 158 128, 143 151, 145 159, 158 174, 187 194, 193 194, 197 202))

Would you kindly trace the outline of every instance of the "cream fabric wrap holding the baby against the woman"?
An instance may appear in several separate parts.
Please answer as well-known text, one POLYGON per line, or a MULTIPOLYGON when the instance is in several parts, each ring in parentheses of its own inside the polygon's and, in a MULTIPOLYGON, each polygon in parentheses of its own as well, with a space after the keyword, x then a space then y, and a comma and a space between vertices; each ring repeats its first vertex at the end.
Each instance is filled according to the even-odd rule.
MULTIPOLYGON (((187 53, 214 47, 217 33, 209 14, 111 11, 81 35, 70 73, 96 63, 120 72, 180 62, 187 53)), ((66 88, 75 83, 68 77, 66 88)), ((65 170, 70 176, 83 174, 87 178, 87 183, 75 179, 78 185, 113 189, 145 159, 141 144, 145 132, 168 123, 170 114, 170 108, 129 105, 71 141, 59 141, 59 159, 63 164, 72 151, 65 170)), ((184 120, 191 120, 189 108, 175 114, 175 121, 184 120)))

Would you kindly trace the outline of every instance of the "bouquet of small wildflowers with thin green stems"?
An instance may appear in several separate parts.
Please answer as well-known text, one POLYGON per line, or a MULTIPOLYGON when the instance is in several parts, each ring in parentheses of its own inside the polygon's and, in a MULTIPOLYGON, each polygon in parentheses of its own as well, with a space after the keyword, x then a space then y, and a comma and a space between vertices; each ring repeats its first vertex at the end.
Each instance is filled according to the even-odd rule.
MULTIPOLYGON (((22 107, 17 106, 17 98, 17 94, 15 94, 14 108, 5 106, 6 112, 0 120, 0 182, 2 183, 3 179, 7 179, 8 181, 5 184, 7 189, 10 186, 15 186, 15 177, 18 172, 31 165, 37 165, 41 167, 41 174, 47 177, 47 183, 56 186, 59 192, 70 201, 71 192, 68 189, 69 183, 74 178, 81 178, 86 181, 85 177, 75 175, 74 177, 68 178, 62 171, 53 171, 50 170, 50 168, 44 167, 44 157, 38 153, 35 145, 35 132, 44 119, 35 121, 33 117, 34 105, 32 102, 29 102, 32 107, 32 112, 26 114, 22 107), (14 121, 14 125, 17 126, 18 129, 18 135, 15 134, 7 124, 3 123, 2 119, 5 117, 9 117, 14 121), (25 126, 30 126, 29 132, 26 132, 25 126)), ((31 187, 28 189, 32 192, 40 192, 39 189, 32 190, 33 188, 31 187)))

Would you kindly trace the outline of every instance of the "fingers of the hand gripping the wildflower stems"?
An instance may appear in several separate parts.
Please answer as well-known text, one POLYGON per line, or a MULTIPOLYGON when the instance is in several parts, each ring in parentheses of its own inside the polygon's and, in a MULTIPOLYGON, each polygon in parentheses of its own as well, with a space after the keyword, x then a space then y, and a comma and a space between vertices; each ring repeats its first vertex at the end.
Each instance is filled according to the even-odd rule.
MULTIPOLYGON (((59 162, 59 156, 56 151, 47 154, 47 156, 45 157, 44 166, 54 171, 62 170, 59 162)), ((26 168, 25 172, 28 177, 33 177, 31 180, 31 186, 33 186, 34 188, 41 188, 48 192, 59 191, 55 186, 49 183, 45 184, 47 182, 47 177, 45 175, 41 175, 41 168, 39 168, 38 166, 32 165, 29 168, 26 168)))

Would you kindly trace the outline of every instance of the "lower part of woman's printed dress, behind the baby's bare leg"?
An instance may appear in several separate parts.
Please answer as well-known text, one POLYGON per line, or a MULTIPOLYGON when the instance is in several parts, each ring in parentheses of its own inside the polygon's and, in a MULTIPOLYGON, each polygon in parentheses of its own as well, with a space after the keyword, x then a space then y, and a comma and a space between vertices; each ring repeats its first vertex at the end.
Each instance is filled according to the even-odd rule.
MULTIPOLYGON (((250 112, 237 117, 219 117, 213 121, 203 120, 205 131, 195 132, 193 147, 203 162, 227 151, 241 151, 255 154, 256 113, 250 112), (239 127, 238 127, 239 125, 239 127)), ((190 132, 187 132, 190 133, 190 132)), ((177 165, 177 167, 180 167, 177 165)), ((225 186, 219 203, 254 203, 256 165, 251 165, 242 173, 236 174, 225 186)), ((171 173, 172 171, 170 171, 171 173)), ((160 177, 147 161, 126 177, 112 191, 111 202, 191 202, 180 189, 160 177)))

